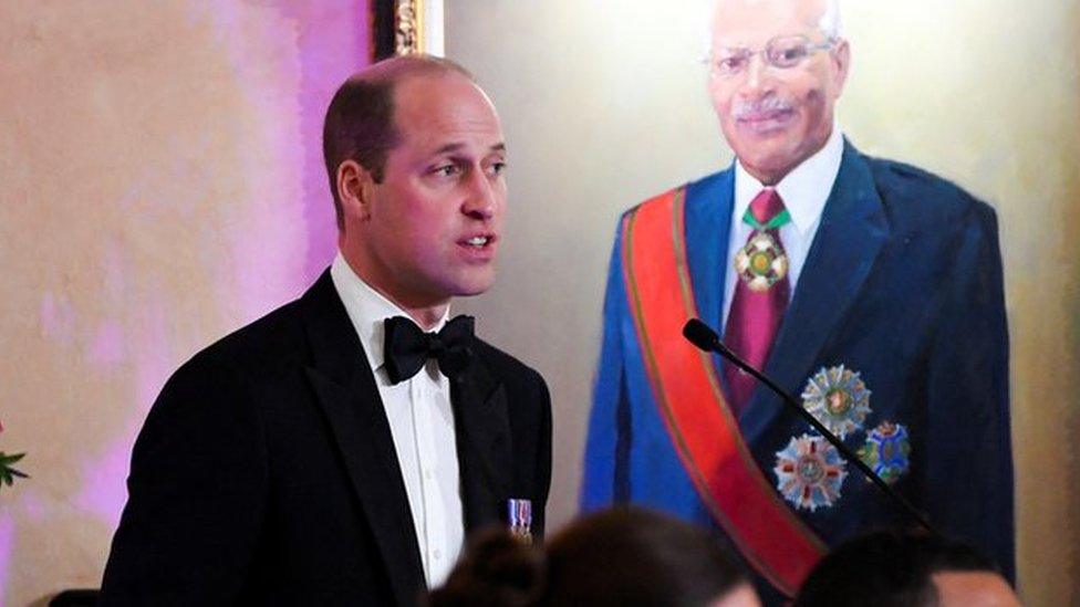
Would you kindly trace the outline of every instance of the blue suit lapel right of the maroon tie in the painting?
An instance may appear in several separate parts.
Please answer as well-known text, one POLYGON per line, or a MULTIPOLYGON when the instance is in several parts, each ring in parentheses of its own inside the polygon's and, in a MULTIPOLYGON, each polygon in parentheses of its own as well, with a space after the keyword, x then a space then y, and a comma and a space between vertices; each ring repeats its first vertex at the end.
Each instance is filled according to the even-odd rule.
MULTIPOLYGON (((766 374, 789 393, 798 396, 816 370, 818 354, 854 303, 887 238, 870 167, 845 140, 840 174, 766 365, 766 374)), ((780 398, 758 386, 740 419, 746 439, 754 443, 782 410, 780 398)))

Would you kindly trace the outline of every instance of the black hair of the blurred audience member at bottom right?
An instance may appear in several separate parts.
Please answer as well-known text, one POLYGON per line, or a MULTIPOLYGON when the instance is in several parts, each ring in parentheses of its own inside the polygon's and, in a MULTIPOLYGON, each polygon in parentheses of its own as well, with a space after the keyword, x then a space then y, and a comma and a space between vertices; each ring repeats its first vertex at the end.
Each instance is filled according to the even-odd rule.
POLYGON ((935 607, 933 575, 1000 574, 966 544, 922 533, 879 531, 844 542, 810 572, 793 607, 935 607))

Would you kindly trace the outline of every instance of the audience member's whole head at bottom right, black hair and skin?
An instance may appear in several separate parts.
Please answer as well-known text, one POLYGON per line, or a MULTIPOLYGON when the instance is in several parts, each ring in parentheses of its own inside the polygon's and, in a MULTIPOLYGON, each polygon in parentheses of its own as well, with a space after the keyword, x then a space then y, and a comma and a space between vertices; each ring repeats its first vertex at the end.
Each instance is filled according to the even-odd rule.
POLYGON ((882 531, 833 550, 810 573, 796 607, 1017 606, 997 567, 974 548, 882 531))

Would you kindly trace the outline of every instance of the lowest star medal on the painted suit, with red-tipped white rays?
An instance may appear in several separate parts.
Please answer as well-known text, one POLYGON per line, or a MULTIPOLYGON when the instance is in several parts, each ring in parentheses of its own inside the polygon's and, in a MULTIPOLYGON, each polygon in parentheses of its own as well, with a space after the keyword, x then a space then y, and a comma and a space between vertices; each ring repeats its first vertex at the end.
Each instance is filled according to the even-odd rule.
POLYGON ((840 499, 840 486, 848 475, 847 464, 837 448, 821 437, 795 437, 777 451, 777 489, 799 510, 814 512, 840 499))

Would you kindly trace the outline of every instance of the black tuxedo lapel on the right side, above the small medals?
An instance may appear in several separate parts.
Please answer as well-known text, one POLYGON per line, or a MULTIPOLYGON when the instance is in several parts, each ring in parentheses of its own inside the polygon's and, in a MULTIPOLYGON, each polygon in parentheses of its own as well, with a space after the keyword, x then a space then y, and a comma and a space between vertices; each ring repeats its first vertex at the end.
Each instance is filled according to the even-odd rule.
POLYGON ((506 388, 474 355, 451 383, 466 533, 498 523, 510 494, 511 446, 506 388))

